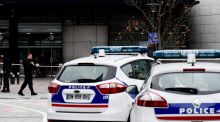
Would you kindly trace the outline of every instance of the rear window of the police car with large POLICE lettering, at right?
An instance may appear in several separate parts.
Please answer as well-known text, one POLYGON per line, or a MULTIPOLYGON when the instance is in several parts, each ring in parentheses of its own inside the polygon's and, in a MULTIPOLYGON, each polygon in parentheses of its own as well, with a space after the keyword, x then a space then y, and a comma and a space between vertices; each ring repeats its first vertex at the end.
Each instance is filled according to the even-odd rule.
POLYGON ((154 76, 151 87, 178 94, 220 93, 220 73, 168 73, 154 76))

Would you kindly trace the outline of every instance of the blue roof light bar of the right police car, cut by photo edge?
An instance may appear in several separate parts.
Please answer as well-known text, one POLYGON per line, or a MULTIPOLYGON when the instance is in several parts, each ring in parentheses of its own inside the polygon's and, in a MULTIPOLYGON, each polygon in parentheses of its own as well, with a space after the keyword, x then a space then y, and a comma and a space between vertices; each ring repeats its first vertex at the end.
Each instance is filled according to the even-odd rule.
POLYGON ((178 59, 195 54, 196 58, 220 58, 220 50, 159 50, 153 53, 154 58, 178 59))

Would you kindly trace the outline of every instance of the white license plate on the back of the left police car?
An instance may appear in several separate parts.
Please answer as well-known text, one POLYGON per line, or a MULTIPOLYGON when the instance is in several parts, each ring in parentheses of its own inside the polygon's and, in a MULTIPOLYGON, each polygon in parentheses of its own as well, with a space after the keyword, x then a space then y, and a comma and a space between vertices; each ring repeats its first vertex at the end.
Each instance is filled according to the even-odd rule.
POLYGON ((67 94, 67 100, 90 100, 90 94, 67 94))

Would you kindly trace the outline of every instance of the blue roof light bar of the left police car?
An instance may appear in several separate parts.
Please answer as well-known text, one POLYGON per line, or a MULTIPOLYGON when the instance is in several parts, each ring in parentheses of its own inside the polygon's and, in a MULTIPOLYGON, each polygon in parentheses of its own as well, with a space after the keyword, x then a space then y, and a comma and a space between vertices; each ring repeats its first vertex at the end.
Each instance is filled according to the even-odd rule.
POLYGON ((100 49, 104 49, 105 53, 147 53, 145 46, 97 46, 92 48, 91 54, 99 53, 100 49))

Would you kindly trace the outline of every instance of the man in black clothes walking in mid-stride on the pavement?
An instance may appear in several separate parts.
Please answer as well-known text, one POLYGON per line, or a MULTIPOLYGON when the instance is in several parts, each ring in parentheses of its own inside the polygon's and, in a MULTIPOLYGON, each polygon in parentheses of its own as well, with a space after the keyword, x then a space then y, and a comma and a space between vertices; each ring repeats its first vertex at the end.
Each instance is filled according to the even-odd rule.
POLYGON ((32 72, 33 72, 33 69, 35 66, 34 66, 33 57, 32 57, 31 53, 28 53, 27 59, 23 62, 23 66, 24 66, 24 82, 23 82, 18 94, 21 96, 24 96, 23 90, 25 89, 25 87, 27 85, 29 85, 31 95, 37 95, 37 93, 35 93, 34 89, 33 89, 32 72))

